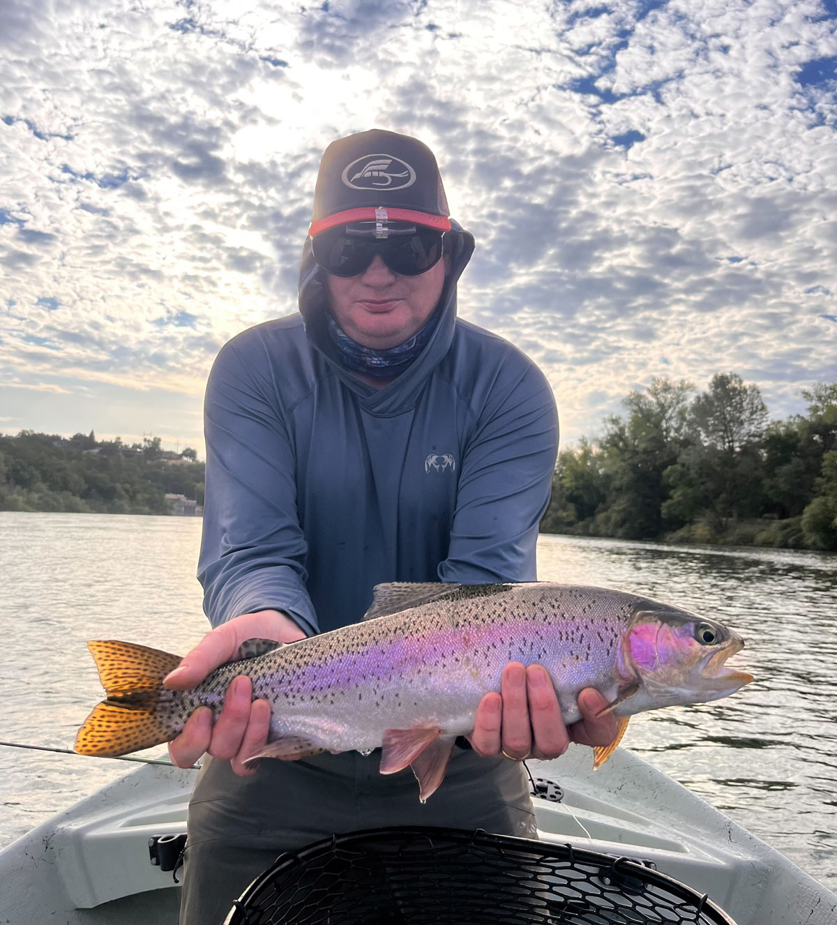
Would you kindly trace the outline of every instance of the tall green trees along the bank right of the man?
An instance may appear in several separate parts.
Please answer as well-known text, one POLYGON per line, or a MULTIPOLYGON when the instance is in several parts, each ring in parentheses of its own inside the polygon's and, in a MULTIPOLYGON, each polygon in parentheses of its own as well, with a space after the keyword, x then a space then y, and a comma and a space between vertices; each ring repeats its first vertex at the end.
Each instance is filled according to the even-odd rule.
POLYGON ((655 378, 559 454, 542 533, 837 550, 837 381, 769 421, 755 385, 655 378))

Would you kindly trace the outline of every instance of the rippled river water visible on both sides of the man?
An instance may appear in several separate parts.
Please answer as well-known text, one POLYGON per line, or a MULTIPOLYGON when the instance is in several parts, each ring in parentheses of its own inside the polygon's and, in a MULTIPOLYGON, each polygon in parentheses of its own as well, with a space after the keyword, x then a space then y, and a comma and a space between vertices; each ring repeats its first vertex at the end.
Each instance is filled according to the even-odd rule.
MULTIPOLYGON (((70 748, 101 698, 85 641, 185 653, 206 623, 201 521, 0 512, 0 740, 70 748)), ((644 713, 623 745, 837 889, 837 557, 541 536, 542 580, 646 594, 730 623, 756 681, 644 713)), ((150 749, 148 755, 159 755, 150 749)), ((0 747, 0 846, 131 770, 0 747)))

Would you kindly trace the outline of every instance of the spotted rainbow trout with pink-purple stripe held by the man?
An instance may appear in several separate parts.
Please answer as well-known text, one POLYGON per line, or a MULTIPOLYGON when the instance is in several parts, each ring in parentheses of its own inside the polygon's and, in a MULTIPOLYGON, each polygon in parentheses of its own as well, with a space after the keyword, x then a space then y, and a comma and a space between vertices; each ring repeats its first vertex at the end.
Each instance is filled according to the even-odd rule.
POLYGON ((753 680, 726 666, 744 642, 716 621, 620 591, 546 582, 379 585, 363 623, 288 645, 251 640, 241 660, 191 691, 162 685, 177 656, 123 642, 88 646, 107 699, 80 728, 82 755, 168 742, 198 707, 217 717, 229 683, 246 674, 253 698, 273 711, 270 741, 250 760, 380 746, 381 772, 410 765, 423 801, 510 661, 547 669, 564 722, 579 719, 583 688, 608 698, 603 712, 618 718, 619 734, 596 749, 595 766, 634 713, 716 700, 753 680))

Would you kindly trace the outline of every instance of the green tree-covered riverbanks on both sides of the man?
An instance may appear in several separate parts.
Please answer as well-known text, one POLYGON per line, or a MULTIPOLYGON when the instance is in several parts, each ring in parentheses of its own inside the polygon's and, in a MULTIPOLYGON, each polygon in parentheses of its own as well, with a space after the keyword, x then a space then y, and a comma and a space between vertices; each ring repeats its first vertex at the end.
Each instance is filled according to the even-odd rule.
MULTIPOLYGON (((837 550, 837 381, 802 395, 806 414, 769 421, 734 373, 699 394, 655 378, 560 452, 541 532, 837 550)), ((200 513, 204 463, 160 442, 0 435, 0 511, 200 513)))

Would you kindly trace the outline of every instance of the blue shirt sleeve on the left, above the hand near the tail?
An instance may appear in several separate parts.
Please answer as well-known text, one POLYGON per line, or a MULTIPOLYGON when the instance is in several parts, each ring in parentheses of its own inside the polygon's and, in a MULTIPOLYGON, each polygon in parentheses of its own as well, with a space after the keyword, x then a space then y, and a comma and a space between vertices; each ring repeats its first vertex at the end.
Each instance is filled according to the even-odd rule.
POLYGON ((206 389, 203 609, 213 626, 242 613, 285 611, 314 634, 291 438, 275 382, 257 361, 231 341, 206 389))

